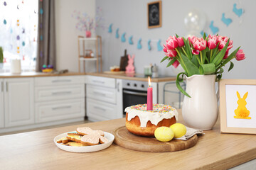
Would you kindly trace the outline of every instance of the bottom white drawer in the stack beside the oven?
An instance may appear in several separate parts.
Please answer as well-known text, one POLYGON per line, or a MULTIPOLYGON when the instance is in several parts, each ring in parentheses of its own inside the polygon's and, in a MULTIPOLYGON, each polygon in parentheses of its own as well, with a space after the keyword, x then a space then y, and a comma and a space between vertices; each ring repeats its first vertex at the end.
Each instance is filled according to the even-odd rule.
POLYGON ((87 98, 86 109, 89 119, 96 118, 97 120, 102 121, 116 118, 117 106, 110 103, 87 98))

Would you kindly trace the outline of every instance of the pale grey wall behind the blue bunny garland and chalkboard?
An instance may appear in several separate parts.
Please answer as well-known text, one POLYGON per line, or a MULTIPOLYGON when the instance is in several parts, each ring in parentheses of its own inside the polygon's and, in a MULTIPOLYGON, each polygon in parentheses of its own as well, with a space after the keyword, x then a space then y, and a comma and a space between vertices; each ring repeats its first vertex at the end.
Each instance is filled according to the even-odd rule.
MULTIPOLYGON (((237 62, 233 60, 235 67, 231 72, 225 72, 223 78, 226 79, 256 79, 256 57, 255 57, 255 39, 256 39, 256 22, 255 22, 255 6, 256 1, 238 1, 238 0, 163 0, 162 1, 162 27, 147 28, 146 8, 150 1, 137 0, 96 0, 96 6, 102 7, 102 13, 105 18, 105 24, 108 27, 113 23, 112 33, 107 33, 107 29, 97 29, 98 35, 102 36, 103 40, 103 70, 109 70, 109 67, 119 65, 120 57, 123 55, 124 49, 128 50, 129 54, 135 54, 134 65, 136 72, 143 73, 144 65, 156 63, 159 66, 159 73, 173 75, 172 69, 166 69, 166 63, 160 64, 161 58, 164 57, 164 52, 156 50, 156 42, 151 42, 152 50, 147 48, 149 39, 161 39, 161 44, 164 43, 169 35, 186 35, 187 31, 183 23, 186 14, 192 8, 199 8, 210 21, 214 21, 214 26, 220 29, 220 35, 226 35, 233 40, 233 50, 236 47, 242 46, 246 55, 246 60, 237 62), (233 4, 237 3, 238 8, 244 8, 245 13, 240 18, 233 13, 233 4), (226 17, 232 18, 233 23, 230 26, 220 21, 222 13, 226 13, 226 17), (127 42, 121 42, 120 38, 115 38, 115 30, 119 28, 119 36, 126 32, 127 42), (129 45, 128 38, 133 35, 134 45, 129 45), (142 38, 142 50, 137 50, 137 41, 142 38)), ((210 34, 213 34, 210 29, 206 29, 210 34)))

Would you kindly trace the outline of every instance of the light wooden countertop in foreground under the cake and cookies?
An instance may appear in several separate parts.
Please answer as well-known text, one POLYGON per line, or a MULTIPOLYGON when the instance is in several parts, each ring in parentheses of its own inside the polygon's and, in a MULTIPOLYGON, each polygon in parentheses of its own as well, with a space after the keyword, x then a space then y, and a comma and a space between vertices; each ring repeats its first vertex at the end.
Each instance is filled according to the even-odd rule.
POLYGON ((219 123, 199 135, 194 147, 178 152, 138 152, 112 144, 99 152, 72 153, 53 142, 78 127, 112 132, 124 124, 122 118, 0 136, 1 169, 228 169, 256 158, 256 135, 220 134, 219 123))

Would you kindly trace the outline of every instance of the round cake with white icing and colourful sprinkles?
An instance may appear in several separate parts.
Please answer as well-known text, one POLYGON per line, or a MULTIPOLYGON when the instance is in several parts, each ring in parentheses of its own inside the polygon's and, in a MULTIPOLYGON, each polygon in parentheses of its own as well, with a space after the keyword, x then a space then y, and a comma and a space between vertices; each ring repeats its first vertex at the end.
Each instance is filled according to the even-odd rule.
POLYGON ((161 126, 170 127, 178 120, 178 112, 164 104, 154 104, 153 111, 146 111, 146 104, 125 108, 125 126, 135 135, 154 137, 154 131, 161 126))

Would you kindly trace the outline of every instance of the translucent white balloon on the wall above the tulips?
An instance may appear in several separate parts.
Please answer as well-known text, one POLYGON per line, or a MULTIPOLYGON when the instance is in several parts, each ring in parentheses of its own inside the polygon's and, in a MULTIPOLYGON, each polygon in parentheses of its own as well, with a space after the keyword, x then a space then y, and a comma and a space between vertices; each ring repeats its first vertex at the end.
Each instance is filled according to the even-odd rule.
POLYGON ((197 30, 200 32, 206 27, 206 14, 194 8, 186 15, 184 23, 188 31, 197 30))

